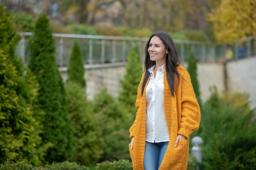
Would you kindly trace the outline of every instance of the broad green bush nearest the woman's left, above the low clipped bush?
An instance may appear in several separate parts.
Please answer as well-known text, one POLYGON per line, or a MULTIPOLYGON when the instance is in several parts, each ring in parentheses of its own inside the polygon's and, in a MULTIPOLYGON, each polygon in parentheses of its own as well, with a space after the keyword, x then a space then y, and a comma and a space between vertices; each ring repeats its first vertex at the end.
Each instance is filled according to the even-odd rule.
POLYGON ((106 143, 101 160, 118 160, 130 158, 128 144, 129 131, 124 129, 126 122, 123 110, 115 98, 107 93, 106 88, 94 97, 93 111, 101 124, 101 131, 106 143))

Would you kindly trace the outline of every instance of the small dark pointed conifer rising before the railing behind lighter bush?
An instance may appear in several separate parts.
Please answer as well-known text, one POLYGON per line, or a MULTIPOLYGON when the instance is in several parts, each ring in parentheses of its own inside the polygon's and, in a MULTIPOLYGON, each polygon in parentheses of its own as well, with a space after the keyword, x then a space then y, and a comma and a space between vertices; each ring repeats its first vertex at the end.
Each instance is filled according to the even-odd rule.
POLYGON ((83 77, 85 69, 83 67, 83 58, 81 55, 81 50, 77 41, 74 41, 72 46, 72 51, 70 55, 70 60, 67 68, 67 83, 76 82, 85 87, 85 79, 83 77))

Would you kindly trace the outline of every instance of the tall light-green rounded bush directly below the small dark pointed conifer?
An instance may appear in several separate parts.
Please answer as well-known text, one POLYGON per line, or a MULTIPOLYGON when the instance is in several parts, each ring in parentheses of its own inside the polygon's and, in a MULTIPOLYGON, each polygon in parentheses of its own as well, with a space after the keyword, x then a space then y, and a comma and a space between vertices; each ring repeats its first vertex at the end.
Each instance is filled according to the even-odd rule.
POLYGON ((66 92, 75 139, 72 161, 93 165, 99 161, 105 147, 101 125, 97 115, 92 112, 91 102, 86 99, 85 88, 72 82, 67 84, 66 92))

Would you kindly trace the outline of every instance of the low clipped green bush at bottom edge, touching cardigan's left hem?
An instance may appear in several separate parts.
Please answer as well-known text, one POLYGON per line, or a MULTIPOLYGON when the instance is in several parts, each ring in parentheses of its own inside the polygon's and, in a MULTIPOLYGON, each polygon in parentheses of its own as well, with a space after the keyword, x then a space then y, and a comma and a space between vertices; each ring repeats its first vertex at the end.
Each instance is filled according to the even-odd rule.
POLYGON ((97 163, 96 170, 132 170, 132 162, 121 159, 119 161, 104 161, 97 163))

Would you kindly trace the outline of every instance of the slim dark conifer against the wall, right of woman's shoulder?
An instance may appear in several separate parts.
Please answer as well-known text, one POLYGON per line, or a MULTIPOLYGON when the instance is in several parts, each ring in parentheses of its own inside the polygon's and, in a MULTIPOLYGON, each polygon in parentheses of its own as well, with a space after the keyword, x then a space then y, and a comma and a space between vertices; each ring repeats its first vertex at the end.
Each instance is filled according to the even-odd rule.
POLYGON ((199 83, 198 83, 196 70, 197 70, 197 61, 195 59, 194 53, 191 52, 188 60, 188 72, 191 77, 191 83, 195 91, 195 96, 198 99, 198 102, 200 102, 200 91, 199 91, 199 83))

